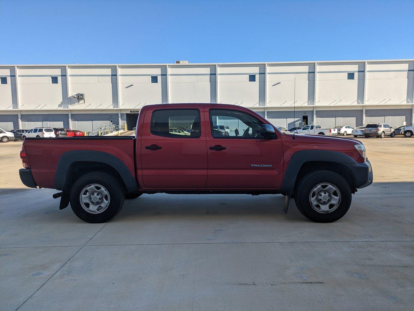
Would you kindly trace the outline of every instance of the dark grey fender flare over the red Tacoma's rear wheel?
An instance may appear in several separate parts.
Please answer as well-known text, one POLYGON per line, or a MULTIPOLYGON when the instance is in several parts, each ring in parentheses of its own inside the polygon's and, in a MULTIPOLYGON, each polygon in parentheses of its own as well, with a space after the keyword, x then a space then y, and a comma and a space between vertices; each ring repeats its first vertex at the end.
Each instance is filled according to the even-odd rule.
POLYGON ((119 158, 103 151, 71 150, 62 154, 56 167, 55 188, 64 190, 65 179, 69 167, 75 162, 98 162, 108 164, 121 176, 128 192, 138 190, 137 181, 132 176, 128 167, 119 158))

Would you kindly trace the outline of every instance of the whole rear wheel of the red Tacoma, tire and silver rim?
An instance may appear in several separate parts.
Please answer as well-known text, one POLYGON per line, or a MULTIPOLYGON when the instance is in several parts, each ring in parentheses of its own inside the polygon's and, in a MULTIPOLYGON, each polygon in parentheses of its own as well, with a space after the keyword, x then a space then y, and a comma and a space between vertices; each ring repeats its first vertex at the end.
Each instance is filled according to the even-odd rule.
POLYGON ((70 206, 85 222, 107 222, 122 209, 125 193, 113 176, 92 172, 80 177, 70 191, 70 206))

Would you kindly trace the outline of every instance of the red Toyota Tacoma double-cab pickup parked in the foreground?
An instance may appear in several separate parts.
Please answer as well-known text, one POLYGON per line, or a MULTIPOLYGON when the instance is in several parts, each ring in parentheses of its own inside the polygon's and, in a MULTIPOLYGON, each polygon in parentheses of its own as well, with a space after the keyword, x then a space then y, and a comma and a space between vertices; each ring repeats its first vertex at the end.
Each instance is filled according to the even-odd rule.
POLYGON ((225 104, 144 106, 135 137, 28 137, 20 157, 24 185, 60 190, 60 209, 93 223, 143 193, 283 194, 285 213, 293 197, 305 217, 333 222, 373 180, 358 140, 283 134, 225 104))

